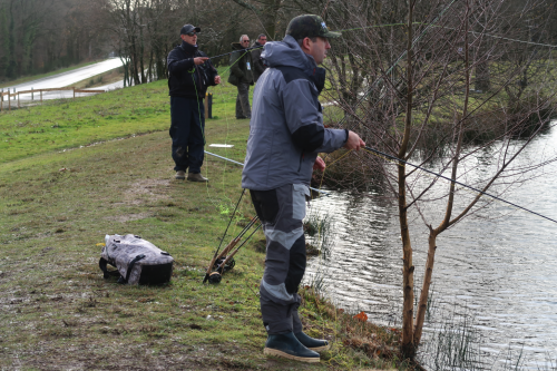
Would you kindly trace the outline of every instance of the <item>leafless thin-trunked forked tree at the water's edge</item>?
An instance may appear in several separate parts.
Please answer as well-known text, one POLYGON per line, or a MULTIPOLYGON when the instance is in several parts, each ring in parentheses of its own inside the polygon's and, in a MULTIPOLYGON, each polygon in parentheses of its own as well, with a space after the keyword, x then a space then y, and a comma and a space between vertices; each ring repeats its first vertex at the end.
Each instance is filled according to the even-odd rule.
MULTIPOLYGON (((344 114, 341 127, 360 131, 387 159, 399 159, 385 162, 385 156, 377 157, 377 153, 350 155, 346 158, 356 159, 352 162, 355 165, 340 162, 340 167, 344 173, 367 167, 381 174, 374 180, 398 205, 401 348, 413 358, 422 335, 437 237, 485 208, 485 193, 499 195, 555 160, 530 159, 525 164, 520 157, 548 126, 555 105, 550 88, 555 64, 551 48, 539 42, 545 26, 536 14, 546 7, 543 1, 411 0, 405 7, 398 6, 390 12, 404 13, 403 26, 401 18, 382 23, 387 20, 384 10, 393 8, 392 3, 370 7, 369 2, 346 0, 329 6, 328 22, 349 28, 351 21, 359 29, 356 36, 344 32, 348 40, 343 41, 348 42, 329 61, 330 100, 344 114), (532 19, 536 29, 528 27, 532 19), (494 163, 476 178, 469 170, 482 152, 489 152, 494 163), (443 183, 407 162, 434 168, 453 182, 443 183), (470 189, 456 182, 479 192, 470 195, 470 189), (437 211, 434 216, 426 213, 431 208, 437 211), (417 307, 409 222, 414 217, 430 231, 417 307)), ((339 111, 330 111, 330 125, 334 125, 339 111)))

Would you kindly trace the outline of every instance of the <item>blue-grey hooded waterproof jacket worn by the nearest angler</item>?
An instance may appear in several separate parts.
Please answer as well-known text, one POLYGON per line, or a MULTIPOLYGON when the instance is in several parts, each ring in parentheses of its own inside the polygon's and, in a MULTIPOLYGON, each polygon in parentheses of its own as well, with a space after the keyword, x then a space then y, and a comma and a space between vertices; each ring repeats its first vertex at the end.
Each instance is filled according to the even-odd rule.
POLYGON ((310 185, 317 154, 336 150, 348 139, 348 130, 323 126, 317 97, 325 70, 291 36, 265 43, 261 57, 268 68, 253 95, 242 187, 310 185))

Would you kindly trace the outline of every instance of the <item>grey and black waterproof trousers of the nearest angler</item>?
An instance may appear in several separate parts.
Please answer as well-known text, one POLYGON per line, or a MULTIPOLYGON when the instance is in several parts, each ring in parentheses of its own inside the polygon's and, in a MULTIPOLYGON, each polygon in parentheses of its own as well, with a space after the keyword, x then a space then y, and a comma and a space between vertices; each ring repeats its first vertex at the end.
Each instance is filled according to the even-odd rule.
POLYGON ((310 189, 289 184, 250 191, 266 238, 265 272, 260 286, 261 313, 268 334, 301 332, 297 289, 305 272, 303 218, 310 189))

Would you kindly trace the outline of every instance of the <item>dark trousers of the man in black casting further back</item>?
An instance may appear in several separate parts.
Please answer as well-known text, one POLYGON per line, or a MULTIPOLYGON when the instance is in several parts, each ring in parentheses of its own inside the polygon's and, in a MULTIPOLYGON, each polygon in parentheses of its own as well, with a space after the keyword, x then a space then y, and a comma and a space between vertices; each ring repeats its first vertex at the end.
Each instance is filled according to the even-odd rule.
POLYGON ((170 97, 170 138, 175 172, 201 173, 205 153, 203 99, 170 97))

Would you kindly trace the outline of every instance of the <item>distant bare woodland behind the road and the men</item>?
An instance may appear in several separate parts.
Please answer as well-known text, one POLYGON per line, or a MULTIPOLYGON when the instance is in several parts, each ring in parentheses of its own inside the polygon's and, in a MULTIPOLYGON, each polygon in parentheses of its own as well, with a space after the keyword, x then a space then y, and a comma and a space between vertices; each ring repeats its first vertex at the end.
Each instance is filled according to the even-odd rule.
MULTIPOLYGON (((509 0, 508 9, 521 9, 525 2, 509 0)), ((557 42, 557 26, 544 21, 553 14, 554 2, 546 1, 544 12, 522 19, 531 40, 557 42)), ((426 14, 437 7, 437 1, 421 1, 417 12, 426 14)), ((380 0, 0 0, 0 80, 47 72, 113 52, 125 62, 127 82, 143 84, 167 77, 166 56, 179 43, 184 23, 202 28, 199 45, 215 56, 229 51, 231 42, 242 33, 252 40, 260 33, 280 40, 289 20, 301 13, 322 14, 331 29, 345 29, 401 22, 404 11, 404 1, 380 0)), ((401 32, 403 27, 384 28, 378 36, 393 40, 401 32)), ((354 62, 354 56, 365 48, 362 35, 358 30, 345 32, 331 55, 335 74, 342 77, 342 86, 336 89, 346 101, 354 100, 353 91, 365 81, 364 70, 354 62)), ((225 65, 228 58, 214 62, 225 65)), ((487 78, 488 71, 483 75, 487 78)))

